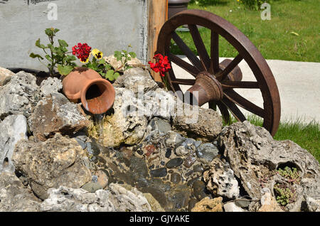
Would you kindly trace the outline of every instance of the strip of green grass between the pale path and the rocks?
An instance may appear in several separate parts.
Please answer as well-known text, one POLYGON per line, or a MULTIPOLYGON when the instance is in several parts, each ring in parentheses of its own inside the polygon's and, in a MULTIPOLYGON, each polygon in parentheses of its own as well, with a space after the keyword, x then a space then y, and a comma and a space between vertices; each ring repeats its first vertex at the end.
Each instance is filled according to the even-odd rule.
MULTIPOLYGON (((232 122, 237 122, 235 118, 231 117, 231 119, 232 122)), ((262 119, 254 114, 247 116, 247 120, 251 124, 262 127, 262 119)), ((292 140, 303 149, 308 150, 320 162, 319 122, 311 121, 309 124, 305 124, 302 119, 280 122, 274 139, 277 141, 292 140)))

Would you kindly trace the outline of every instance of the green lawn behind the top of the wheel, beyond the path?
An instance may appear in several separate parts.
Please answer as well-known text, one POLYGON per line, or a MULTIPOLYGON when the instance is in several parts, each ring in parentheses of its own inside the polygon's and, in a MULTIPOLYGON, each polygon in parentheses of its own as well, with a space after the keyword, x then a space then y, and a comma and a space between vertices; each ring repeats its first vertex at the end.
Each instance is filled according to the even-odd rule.
MULTIPOLYGON (((233 23, 260 50, 266 59, 320 62, 320 1, 281 0, 271 3, 271 20, 262 21, 260 11, 250 11, 236 0, 215 0, 205 5, 189 4, 188 9, 210 11, 233 23), (294 35, 294 33, 299 36, 294 35)), ((210 53, 210 31, 200 28, 210 53)), ((190 33, 178 32, 196 53, 190 33)), ((220 57, 235 57, 237 51, 220 36, 220 57)), ((173 53, 183 54, 177 46, 173 53)))

